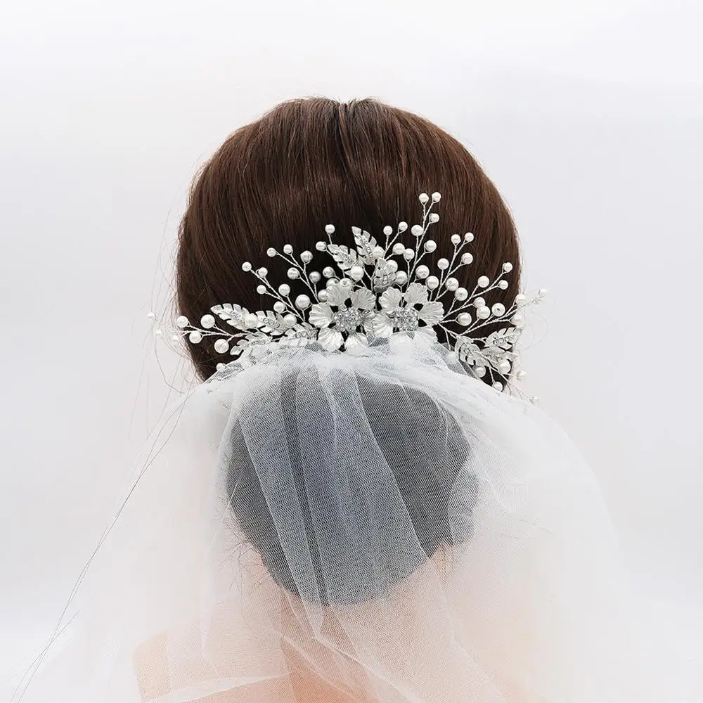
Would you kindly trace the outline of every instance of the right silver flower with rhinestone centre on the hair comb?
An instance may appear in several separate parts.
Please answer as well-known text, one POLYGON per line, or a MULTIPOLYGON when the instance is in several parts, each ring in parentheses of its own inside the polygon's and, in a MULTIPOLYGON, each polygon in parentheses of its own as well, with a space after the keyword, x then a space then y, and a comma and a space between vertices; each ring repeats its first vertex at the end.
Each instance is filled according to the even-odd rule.
POLYGON ((378 299, 381 312, 375 317, 374 332, 380 337, 390 337, 395 331, 430 332, 432 325, 444 317, 444 306, 441 302, 429 302, 429 294, 422 283, 411 283, 405 292, 399 288, 382 292, 378 299))

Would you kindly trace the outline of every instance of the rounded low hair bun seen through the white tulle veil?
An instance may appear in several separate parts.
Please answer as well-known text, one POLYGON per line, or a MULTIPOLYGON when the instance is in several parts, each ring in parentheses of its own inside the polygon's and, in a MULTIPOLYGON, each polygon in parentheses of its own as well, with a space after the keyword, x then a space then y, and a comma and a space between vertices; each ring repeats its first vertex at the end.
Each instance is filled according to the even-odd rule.
MULTIPOLYGON (((342 449, 336 455, 333 449, 333 456, 326 457, 325 466, 331 467, 331 475, 304 462, 300 449, 302 437, 316 446, 335 447, 337 441, 331 407, 333 401, 325 398, 322 392, 315 395, 319 407, 307 406, 305 415, 301 415, 296 398, 300 385, 309 380, 300 378, 297 373, 285 376, 280 382, 288 444, 284 456, 290 460, 290 468, 276 465, 254 467, 238 422, 233 424, 231 446, 227 448, 226 490, 238 526, 262 556, 273 579, 303 600, 323 603, 372 600, 409 576, 442 546, 451 546, 470 536, 477 486, 475 477, 465 472, 470 447, 456 419, 420 389, 406 387, 394 380, 360 375, 354 378, 356 388, 353 392, 361 399, 361 409, 368 423, 366 429, 370 430, 370 434, 367 432, 364 436, 375 438, 375 446, 371 441, 370 446, 358 448, 361 467, 354 465, 353 458, 342 449), (378 457, 379 451, 381 458, 378 457), (355 471, 363 471, 365 464, 361 454, 365 452, 376 453, 372 461, 377 465, 384 465, 385 460, 387 475, 392 477, 380 479, 375 484, 373 496, 360 495, 354 485, 355 471), (266 481, 283 481, 286 477, 278 476, 277 472, 289 470, 295 491, 286 496, 289 505, 283 512, 290 515, 290 520, 302 516, 316 582, 314 592, 310 593, 302 592, 292 576, 297 569, 291 569, 289 560, 298 559, 299 555, 284 553, 281 525, 276 524, 271 516, 262 489, 262 474, 265 474, 266 481), (468 492, 465 484, 458 491, 470 496, 469 505, 458 505, 453 501, 457 484, 461 481, 470 482, 468 492), (385 512, 382 508, 385 503, 399 505, 398 494, 414 529, 414 538, 412 535, 399 538, 398 526, 392 524, 390 511, 385 512), (367 501, 375 506, 368 512, 371 517, 368 520, 362 518, 361 525, 350 520, 347 510, 361 512, 367 501), (354 529, 350 529, 350 524, 355 525, 354 529), (321 537, 325 541, 336 540, 337 571, 343 574, 340 581, 330 583, 330 579, 325 578, 328 565, 322 563, 321 537), (409 557, 407 543, 411 538, 415 545, 419 543, 421 550, 415 549, 413 556, 409 557), (365 555, 375 555, 373 565, 365 561, 368 558, 365 555)), ((363 423, 363 419, 360 422, 363 423)), ((247 427, 247 432, 251 430, 247 427)), ((262 436, 264 434, 262 428, 262 436)), ((349 446, 348 442, 346 446, 349 446)), ((280 510, 281 506, 277 505, 276 515, 280 510)), ((359 513, 354 517, 359 517, 359 513)))

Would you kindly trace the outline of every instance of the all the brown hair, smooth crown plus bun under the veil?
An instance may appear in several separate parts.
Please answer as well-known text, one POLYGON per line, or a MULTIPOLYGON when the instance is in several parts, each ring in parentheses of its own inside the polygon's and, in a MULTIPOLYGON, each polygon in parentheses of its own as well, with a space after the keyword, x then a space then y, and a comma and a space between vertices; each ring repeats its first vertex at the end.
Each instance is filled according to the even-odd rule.
MULTIPOLYGON (((375 100, 282 103, 232 134, 195 181, 180 232, 179 313, 198 319, 224 301, 260 309, 262 296, 242 275, 243 262, 266 260, 271 280, 286 280, 285 260, 266 259, 266 252, 269 247, 285 251, 288 244, 296 251, 311 250, 311 266, 321 269, 323 254, 314 244, 326 224, 334 224, 337 244, 353 246, 353 226, 378 232, 412 221, 418 193, 434 191, 442 196, 441 219, 433 230, 437 251, 428 255, 427 264, 446 256, 454 233, 474 233, 475 266, 456 274, 459 283, 474 290, 479 273, 496 277, 503 262, 512 262, 510 284, 486 292, 486 304, 510 307, 520 285, 515 227, 493 183, 455 138, 423 117, 375 100)), ((305 292, 299 280, 290 280, 290 288, 291 298, 305 292)), ((202 378, 231 360, 204 345, 188 349, 202 378)), ((278 453, 252 460, 256 447, 246 432, 233 427, 227 467, 232 510, 273 579, 304 600, 369 600, 441 546, 467 536, 466 529, 453 532, 451 527, 451 493, 469 453, 451 413, 422 389, 382 378, 353 383, 364 411, 359 422, 375 437, 380 463, 387 465, 381 484, 362 487, 363 468, 355 462, 363 452, 354 456, 348 438, 335 434, 332 405, 320 401, 307 407, 307 415, 302 411, 304 385, 295 375, 283 378, 275 397, 258 399, 263 406, 280 401, 287 413, 278 453), (329 437, 337 444, 326 443, 329 437), (283 505, 272 517, 262 482, 276 485, 283 478, 288 493, 281 494, 283 505), (383 515, 378 506, 386 500, 400 512, 383 515), (370 501, 375 510, 369 509, 370 501), (281 517, 289 508, 289 517, 281 517), (301 567, 305 583, 290 567, 300 555, 287 552, 292 546, 282 536, 286 525, 276 522, 294 518, 309 548, 301 567), (399 533, 399 524, 413 533, 412 544, 399 533)), ((276 441, 257 428, 250 428, 250 437, 252 432, 259 443, 276 441)), ((467 495, 466 484, 464 489, 467 495)), ((463 510, 470 515, 471 508, 463 510)))

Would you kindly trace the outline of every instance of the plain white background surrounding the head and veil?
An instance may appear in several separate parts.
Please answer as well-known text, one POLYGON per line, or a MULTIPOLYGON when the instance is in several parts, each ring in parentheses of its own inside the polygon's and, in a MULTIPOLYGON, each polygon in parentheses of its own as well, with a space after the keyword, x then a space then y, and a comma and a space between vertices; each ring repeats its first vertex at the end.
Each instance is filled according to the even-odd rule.
POLYGON ((195 169, 304 95, 420 112, 486 167, 527 288, 553 294, 529 390, 593 463, 640 582, 695 600, 702 25, 695 0, 4 0, 0 691, 160 415, 174 364, 146 313, 169 304, 195 169))

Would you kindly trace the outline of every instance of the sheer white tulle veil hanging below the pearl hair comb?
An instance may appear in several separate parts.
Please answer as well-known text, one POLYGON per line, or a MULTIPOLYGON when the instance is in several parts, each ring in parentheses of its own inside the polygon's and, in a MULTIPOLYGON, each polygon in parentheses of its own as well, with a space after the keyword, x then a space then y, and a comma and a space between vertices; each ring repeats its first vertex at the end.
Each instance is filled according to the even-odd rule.
POLYGON ((18 700, 703 701, 700 615, 628 593, 565 433, 423 335, 262 347, 157 450, 18 700))

